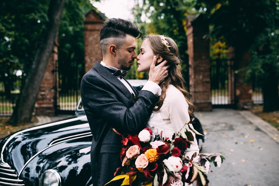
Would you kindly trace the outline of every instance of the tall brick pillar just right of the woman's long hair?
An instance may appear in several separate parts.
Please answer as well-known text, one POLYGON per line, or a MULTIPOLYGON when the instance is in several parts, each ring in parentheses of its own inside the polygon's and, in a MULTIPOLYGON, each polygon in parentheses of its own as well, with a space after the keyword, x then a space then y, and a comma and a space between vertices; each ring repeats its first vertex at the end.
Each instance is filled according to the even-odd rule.
POLYGON ((212 110, 208 32, 203 15, 187 16, 190 92, 196 107, 203 111, 212 110))

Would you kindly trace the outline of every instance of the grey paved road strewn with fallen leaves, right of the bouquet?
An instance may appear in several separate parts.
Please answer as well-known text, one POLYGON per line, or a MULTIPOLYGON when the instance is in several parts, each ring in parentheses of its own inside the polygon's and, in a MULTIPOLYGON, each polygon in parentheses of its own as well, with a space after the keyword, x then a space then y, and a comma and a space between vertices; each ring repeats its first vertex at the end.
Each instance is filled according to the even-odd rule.
POLYGON ((207 131, 203 153, 219 152, 226 160, 211 166, 210 186, 279 185, 279 144, 233 109, 195 112, 207 131))

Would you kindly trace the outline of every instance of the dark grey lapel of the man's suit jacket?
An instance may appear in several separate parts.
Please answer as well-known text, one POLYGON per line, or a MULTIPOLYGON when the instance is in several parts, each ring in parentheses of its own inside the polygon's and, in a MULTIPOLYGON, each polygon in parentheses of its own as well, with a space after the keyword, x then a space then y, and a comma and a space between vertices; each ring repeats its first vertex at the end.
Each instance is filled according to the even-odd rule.
POLYGON ((129 100, 131 100, 133 103, 136 103, 134 96, 127 89, 127 87, 118 78, 116 78, 114 75, 112 75, 112 73, 110 73, 110 71, 108 71, 103 65, 96 62, 93 68, 96 69, 96 71, 103 78, 105 78, 110 83, 112 83, 114 86, 116 86, 119 89, 119 91, 122 92, 129 100))

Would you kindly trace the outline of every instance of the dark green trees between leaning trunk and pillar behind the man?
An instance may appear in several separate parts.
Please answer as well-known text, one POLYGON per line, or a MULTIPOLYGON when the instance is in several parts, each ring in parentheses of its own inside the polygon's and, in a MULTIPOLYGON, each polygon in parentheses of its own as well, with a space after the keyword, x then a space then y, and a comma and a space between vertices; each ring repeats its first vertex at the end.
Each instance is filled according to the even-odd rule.
POLYGON ((58 70, 61 91, 79 90, 84 69, 85 14, 92 9, 86 1, 66 1, 59 28, 58 70), (71 75, 69 75, 71 74, 71 75))

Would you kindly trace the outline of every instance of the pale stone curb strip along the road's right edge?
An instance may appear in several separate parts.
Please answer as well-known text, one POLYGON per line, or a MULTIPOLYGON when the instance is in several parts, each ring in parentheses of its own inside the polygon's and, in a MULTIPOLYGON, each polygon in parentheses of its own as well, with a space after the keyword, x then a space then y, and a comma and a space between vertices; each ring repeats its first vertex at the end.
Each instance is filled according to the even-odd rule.
POLYGON ((255 124, 261 131, 266 133, 271 139, 279 144, 279 131, 274 126, 270 125, 268 122, 263 121, 260 117, 251 113, 250 111, 239 111, 239 113, 244 116, 248 121, 255 124))

